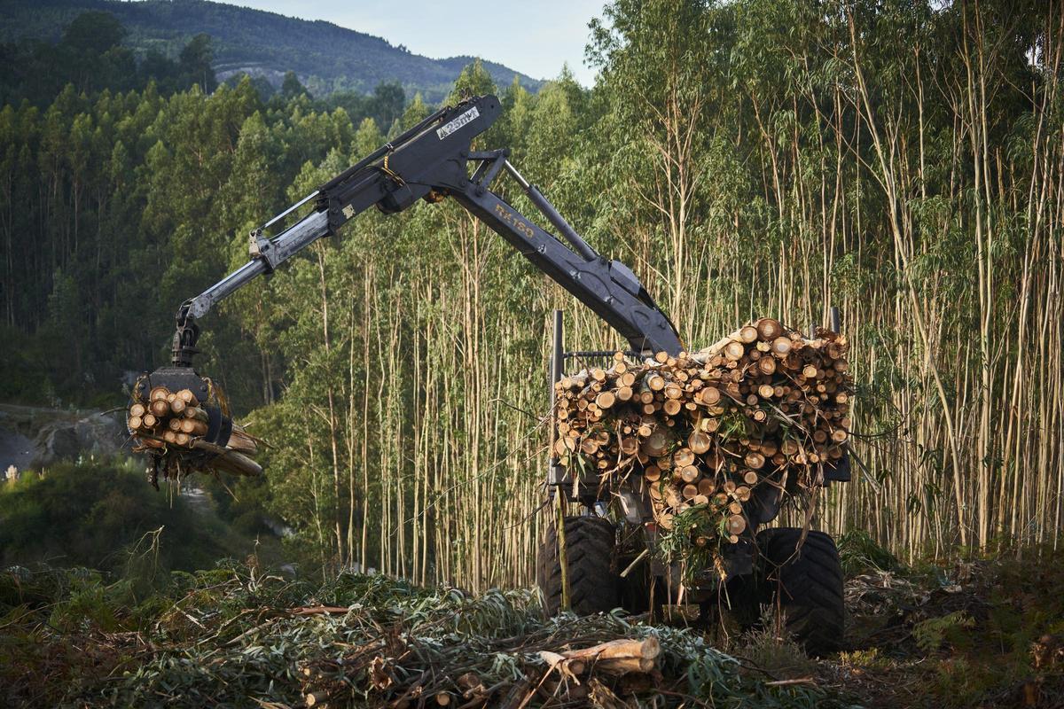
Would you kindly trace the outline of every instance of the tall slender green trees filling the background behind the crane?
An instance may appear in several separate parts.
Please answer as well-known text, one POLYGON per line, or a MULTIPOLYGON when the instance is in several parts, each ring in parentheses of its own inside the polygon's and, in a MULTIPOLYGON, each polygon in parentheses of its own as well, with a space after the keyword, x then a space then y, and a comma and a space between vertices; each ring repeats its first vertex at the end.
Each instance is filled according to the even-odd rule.
MULTIPOLYGON (((479 147, 511 148, 691 345, 842 308, 863 467, 816 524, 903 557, 1027 545, 1055 538, 1064 486, 1062 22, 1003 0, 616 0, 593 89, 475 64, 452 95, 500 94, 479 147)), ((355 120, 248 81, 4 106, 5 395, 120 404, 250 229, 428 111, 355 120)), ((205 319, 198 365, 268 440, 252 499, 307 558, 528 584, 555 307, 572 345, 620 344, 458 205, 367 213, 205 319)))

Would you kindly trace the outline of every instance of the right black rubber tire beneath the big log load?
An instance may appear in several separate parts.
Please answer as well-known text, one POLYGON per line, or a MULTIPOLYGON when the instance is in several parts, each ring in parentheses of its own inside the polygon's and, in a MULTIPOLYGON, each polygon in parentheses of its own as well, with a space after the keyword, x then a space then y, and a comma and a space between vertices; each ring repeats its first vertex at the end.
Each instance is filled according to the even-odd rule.
POLYGON ((822 531, 764 529, 758 534, 763 602, 786 618, 786 628, 811 655, 843 646, 846 603, 835 542, 822 531))

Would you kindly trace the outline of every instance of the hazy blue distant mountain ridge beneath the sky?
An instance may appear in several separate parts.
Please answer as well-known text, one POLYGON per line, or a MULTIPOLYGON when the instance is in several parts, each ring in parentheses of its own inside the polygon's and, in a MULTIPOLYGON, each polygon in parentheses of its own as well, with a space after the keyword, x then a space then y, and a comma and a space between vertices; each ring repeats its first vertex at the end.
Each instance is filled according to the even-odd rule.
MULTIPOLYGON (((426 101, 442 101, 462 67, 472 56, 433 60, 413 54, 386 39, 323 20, 303 20, 263 10, 210 0, 3 0, 0 41, 57 39, 63 28, 86 10, 115 15, 129 30, 126 44, 138 51, 173 54, 192 36, 205 32, 214 40, 220 79, 248 71, 276 80, 295 71, 315 95, 334 90, 372 91, 381 82, 399 82, 408 97, 420 91, 426 101)), ((529 90, 542 81, 495 62, 484 68, 500 86, 514 77, 529 90)))

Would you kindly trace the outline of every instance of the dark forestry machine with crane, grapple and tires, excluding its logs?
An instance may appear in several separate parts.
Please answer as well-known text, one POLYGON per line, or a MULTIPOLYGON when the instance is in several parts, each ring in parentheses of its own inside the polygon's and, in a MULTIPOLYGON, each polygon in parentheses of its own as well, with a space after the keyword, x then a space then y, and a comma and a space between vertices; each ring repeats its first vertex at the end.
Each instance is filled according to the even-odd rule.
MULTIPOLYGON (((600 255, 577 234, 509 162, 506 149, 472 149, 473 138, 496 121, 500 111, 495 96, 467 98, 444 107, 255 229, 250 235, 250 260, 181 304, 172 364, 144 377, 139 394, 159 386, 170 391, 189 389, 206 402, 203 408, 210 421, 204 438, 217 446, 212 450, 222 450, 232 422, 218 398, 209 395, 210 381, 192 367, 198 352, 198 321, 218 301, 256 276, 271 274, 317 239, 335 235, 369 207, 393 214, 418 200, 435 203, 450 198, 461 204, 616 330, 630 345, 628 356, 642 359, 658 352, 680 353, 683 347, 676 327, 628 266, 600 255), (558 236, 493 191, 503 172, 516 181, 558 236), (269 235, 271 231, 276 235, 269 235)), ((561 311, 554 313, 551 384, 562 377, 568 358, 613 354, 565 352, 561 311)), ((551 386, 552 402, 553 392, 551 386)), ((847 459, 827 469, 824 478, 825 484, 849 479, 847 459)), ((537 559, 538 583, 550 612, 561 609, 563 583, 570 608, 579 613, 621 606, 635 612, 652 611, 656 605, 677 601, 679 572, 655 560, 659 531, 647 500, 627 487, 608 490, 597 479, 571 479, 556 459, 548 469, 546 485, 564 512, 564 534, 558 534, 556 525, 550 529, 537 559), (559 541, 566 550, 561 555, 567 559, 564 571, 559 541)), ((830 648, 841 639, 843 623, 842 575, 834 542, 817 531, 802 539, 801 530, 795 528, 759 533, 759 526, 778 514, 783 493, 774 486, 754 490, 757 494, 745 503, 747 530, 738 543, 727 545, 724 576, 728 580, 719 580, 718 569, 706 569, 703 583, 687 583, 686 601, 701 604, 703 610, 727 607, 734 617, 751 622, 761 604, 775 603, 808 646, 830 648)))

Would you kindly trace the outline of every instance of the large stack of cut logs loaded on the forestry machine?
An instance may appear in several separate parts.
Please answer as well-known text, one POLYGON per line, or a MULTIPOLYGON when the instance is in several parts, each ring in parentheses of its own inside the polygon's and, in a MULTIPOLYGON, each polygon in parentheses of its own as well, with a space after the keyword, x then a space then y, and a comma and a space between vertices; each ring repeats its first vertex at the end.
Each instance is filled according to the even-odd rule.
POLYGON ((844 454, 847 343, 830 331, 815 335, 763 318, 697 353, 633 365, 618 352, 609 369, 555 385, 554 453, 584 479, 627 479, 665 529, 694 510, 711 522, 700 529, 735 542, 757 486, 801 494, 844 454))

